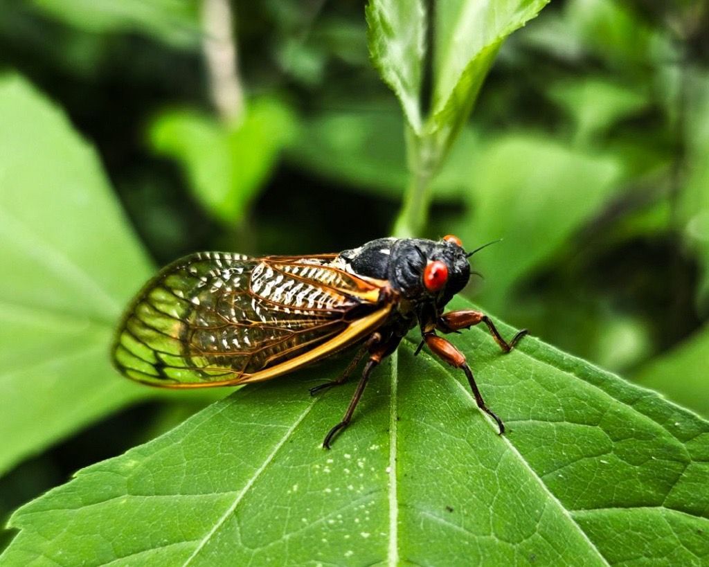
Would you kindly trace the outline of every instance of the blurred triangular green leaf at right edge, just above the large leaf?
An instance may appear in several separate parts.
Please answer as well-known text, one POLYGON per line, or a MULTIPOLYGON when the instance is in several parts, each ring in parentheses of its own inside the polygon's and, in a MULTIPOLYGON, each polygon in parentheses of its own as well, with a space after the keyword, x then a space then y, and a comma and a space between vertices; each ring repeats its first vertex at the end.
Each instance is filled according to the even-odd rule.
POLYGON ((679 346, 642 366, 633 379, 706 417, 709 416, 708 360, 709 327, 704 327, 679 346))

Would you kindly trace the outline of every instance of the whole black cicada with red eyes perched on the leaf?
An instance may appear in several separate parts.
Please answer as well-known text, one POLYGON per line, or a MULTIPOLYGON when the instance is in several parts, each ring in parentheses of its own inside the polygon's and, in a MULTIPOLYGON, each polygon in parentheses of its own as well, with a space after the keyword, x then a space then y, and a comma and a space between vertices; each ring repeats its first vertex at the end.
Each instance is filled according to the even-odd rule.
MULTIPOLYGON (((340 252, 315 256, 253 258, 199 252, 169 264, 138 293, 123 316, 113 346, 121 374, 164 388, 236 386, 287 374, 349 347, 359 346, 335 381, 342 384, 364 357, 362 376, 342 420, 352 420, 375 366, 413 327, 433 354, 470 383, 478 407, 497 422, 475 383, 464 355, 437 332, 448 334, 484 323, 503 352, 510 342, 476 310, 444 313, 470 278, 460 240, 380 238, 340 252)), ((417 350, 417 354, 418 354, 417 350)))

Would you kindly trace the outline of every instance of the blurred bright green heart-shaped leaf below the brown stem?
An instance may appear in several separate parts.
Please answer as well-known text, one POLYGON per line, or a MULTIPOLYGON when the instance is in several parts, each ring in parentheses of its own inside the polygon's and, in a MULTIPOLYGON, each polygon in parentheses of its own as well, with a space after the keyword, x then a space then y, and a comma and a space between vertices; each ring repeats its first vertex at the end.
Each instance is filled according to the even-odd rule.
POLYGON ((294 118, 277 99, 255 99, 240 125, 184 109, 162 113, 150 126, 155 152, 179 162, 196 198, 233 225, 272 173, 294 133, 294 118))

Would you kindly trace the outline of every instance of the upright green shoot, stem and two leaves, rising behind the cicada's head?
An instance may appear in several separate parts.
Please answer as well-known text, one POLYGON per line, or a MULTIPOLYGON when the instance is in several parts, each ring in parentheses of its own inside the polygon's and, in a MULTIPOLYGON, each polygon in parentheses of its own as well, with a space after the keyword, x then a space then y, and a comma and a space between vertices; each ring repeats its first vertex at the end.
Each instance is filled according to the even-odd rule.
POLYGON ((394 234, 413 236, 423 229, 431 180, 467 120, 499 47, 548 1, 449 0, 428 3, 428 13, 421 1, 369 1, 372 62, 398 97, 408 121, 411 175, 394 234), (426 50, 431 51, 430 61, 426 50), (432 100, 422 117, 423 77, 428 76, 432 100))

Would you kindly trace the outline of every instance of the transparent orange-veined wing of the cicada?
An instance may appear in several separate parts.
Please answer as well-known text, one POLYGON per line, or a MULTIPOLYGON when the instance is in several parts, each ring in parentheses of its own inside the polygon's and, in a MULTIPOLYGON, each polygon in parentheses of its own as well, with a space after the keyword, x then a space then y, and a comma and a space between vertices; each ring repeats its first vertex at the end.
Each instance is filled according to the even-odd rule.
POLYGON ((391 305, 376 302, 376 281, 328 262, 218 252, 180 259, 130 305, 116 367, 155 386, 222 386, 272 378, 344 348, 381 325, 391 305), (291 267, 298 263, 306 267, 291 267), (353 319, 355 309, 361 316, 353 319))

